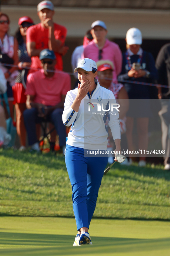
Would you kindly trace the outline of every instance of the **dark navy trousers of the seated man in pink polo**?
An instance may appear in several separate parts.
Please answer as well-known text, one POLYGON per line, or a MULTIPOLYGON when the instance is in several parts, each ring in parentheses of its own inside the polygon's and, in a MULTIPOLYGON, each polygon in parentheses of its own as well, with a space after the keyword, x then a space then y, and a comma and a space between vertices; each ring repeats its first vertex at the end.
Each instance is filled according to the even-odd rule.
MULTIPOLYGON (((49 115, 45 121, 54 124, 55 129, 59 136, 60 147, 66 145, 66 127, 62 122, 63 109, 55 109, 49 115)), ((43 117, 38 117, 37 108, 26 109, 23 113, 24 124, 28 134, 28 144, 33 145, 37 141, 36 124, 44 121, 43 117)))

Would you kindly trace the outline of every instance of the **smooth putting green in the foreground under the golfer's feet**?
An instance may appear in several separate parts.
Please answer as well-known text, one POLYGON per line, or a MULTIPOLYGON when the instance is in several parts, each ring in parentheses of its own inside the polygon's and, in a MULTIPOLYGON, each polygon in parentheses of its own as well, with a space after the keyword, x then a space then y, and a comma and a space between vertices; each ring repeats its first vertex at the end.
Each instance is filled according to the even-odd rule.
POLYGON ((93 246, 73 247, 73 218, 0 217, 1 256, 168 256, 170 222, 92 219, 93 246))

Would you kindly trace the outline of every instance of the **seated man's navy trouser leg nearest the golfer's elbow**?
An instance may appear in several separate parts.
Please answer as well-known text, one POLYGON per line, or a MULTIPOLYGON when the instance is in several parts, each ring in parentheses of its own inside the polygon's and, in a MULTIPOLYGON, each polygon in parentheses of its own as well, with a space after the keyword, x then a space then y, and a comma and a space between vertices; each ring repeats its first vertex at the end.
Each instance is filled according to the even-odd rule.
POLYGON ((59 136, 60 147, 66 145, 66 126, 62 122, 63 109, 55 109, 51 113, 51 122, 54 124, 55 129, 59 136))

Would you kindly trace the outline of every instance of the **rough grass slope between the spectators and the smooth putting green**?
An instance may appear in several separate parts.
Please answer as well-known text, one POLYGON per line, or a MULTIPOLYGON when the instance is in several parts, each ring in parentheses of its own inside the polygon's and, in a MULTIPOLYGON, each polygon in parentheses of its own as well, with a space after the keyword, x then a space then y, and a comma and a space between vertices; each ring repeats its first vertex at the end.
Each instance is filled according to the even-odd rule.
MULTIPOLYGON (((116 163, 104 175, 94 217, 170 220, 170 172, 116 163)), ((61 155, 0 149, 0 214, 73 216, 61 155)))

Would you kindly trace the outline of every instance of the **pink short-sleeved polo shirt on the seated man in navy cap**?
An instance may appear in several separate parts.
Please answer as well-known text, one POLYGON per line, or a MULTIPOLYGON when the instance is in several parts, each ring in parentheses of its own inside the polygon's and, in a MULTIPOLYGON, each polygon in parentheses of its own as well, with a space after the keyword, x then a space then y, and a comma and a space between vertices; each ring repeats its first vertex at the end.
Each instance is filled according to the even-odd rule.
POLYGON ((34 95, 34 102, 46 106, 55 106, 60 103, 62 95, 66 95, 70 89, 70 75, 61 71, 48 78, 41 69, 30 73, 27 77, 26 94, 34 95))

